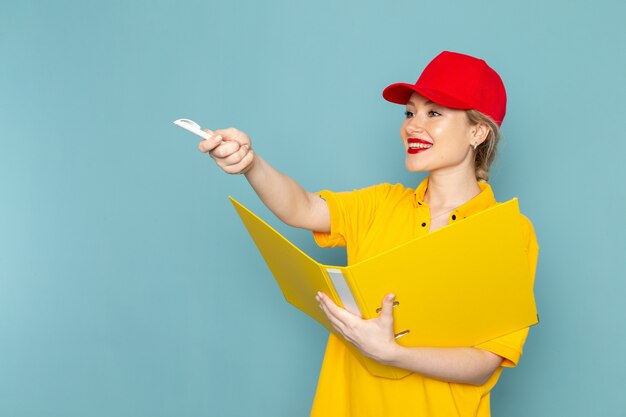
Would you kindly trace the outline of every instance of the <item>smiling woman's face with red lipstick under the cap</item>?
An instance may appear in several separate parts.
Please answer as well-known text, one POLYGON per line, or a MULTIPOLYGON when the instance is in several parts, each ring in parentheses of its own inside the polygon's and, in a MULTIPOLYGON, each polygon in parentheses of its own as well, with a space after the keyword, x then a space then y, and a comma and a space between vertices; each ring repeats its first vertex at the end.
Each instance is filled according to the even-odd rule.
POLYGON ((477 136, 482 126, 471 126, 464 110, 440 106, 413 93, 406 105, 406 118, 400 137, 409 171, 474 171, 471 145, 484 138, 477 136))

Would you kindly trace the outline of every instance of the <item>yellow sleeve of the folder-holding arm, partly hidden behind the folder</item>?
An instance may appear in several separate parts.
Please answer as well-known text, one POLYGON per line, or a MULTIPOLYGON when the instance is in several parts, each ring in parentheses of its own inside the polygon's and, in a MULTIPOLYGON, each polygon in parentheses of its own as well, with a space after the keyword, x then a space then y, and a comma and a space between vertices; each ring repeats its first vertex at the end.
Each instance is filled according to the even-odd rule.
MULTIPOLYGON (((537 257, 539 255, 539 245, 537 244, 537 237, 535 236, 533 225, 525 216, 522 216, 522 228, 523 236, 527 242, 526 255, 528 257, 530 280, 534 284, 535 271, 537 269, 537 257)), ((528 328, 525 328, 496 339, 489 340, 485 343, 481 343, 475 347, 488 350, 489 352, 502 356, 504 359, 502 366, 513 368, 518 364, 519 359, 522 356, 527 336, 528 328)))

